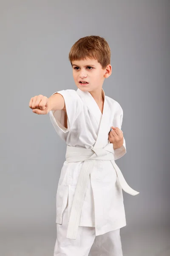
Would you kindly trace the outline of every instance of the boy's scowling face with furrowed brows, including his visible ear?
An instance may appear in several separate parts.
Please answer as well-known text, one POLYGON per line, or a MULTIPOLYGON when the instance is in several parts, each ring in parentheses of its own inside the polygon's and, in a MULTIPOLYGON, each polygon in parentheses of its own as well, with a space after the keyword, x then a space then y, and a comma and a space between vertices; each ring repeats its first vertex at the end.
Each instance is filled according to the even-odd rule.
POLYGON ((111 65, 104 70, 96 59, 86 58, 80 61, 73 61, 73 78, 77 87, 82 91, 95 91, 102 89, 105 78, 111 75, 111 65), (85 81, 87 83, 81 83, 85 81))

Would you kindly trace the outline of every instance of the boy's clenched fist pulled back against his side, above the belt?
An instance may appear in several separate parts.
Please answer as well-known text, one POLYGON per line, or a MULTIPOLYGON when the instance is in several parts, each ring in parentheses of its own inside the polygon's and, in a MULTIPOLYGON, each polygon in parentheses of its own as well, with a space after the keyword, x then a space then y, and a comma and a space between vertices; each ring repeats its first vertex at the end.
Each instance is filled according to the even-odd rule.
POLYGON ((113 130, 109 132, 108 140, 113 143, 113 149, 120 148, 123 145, 123 132, 118 127, 111 127, 113 130))

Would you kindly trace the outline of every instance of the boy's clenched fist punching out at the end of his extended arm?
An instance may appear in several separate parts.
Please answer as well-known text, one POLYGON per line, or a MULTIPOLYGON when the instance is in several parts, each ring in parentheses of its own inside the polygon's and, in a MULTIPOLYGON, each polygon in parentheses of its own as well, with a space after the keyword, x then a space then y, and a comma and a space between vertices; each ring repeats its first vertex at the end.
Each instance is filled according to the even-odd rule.
POLYGON ((34 96, 30 99, 29 107, 33 109, 32 112, 38 115, 45 115, 48 114, 48 112, 50 111, 48 98, 41 94, 38 96, 34 96))

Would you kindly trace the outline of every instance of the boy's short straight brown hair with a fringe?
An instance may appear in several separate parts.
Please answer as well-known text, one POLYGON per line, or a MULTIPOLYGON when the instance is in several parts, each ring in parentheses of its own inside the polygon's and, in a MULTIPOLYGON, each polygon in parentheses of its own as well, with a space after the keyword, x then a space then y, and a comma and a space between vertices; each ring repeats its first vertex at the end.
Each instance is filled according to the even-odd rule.
POLYGON ((80 38, 72 47, 69 52, 69 60, 79 61, 85 58, 94 58, 105 69, 111 62, 111 49, 105 38, 97 35, 90 35, 80 38))

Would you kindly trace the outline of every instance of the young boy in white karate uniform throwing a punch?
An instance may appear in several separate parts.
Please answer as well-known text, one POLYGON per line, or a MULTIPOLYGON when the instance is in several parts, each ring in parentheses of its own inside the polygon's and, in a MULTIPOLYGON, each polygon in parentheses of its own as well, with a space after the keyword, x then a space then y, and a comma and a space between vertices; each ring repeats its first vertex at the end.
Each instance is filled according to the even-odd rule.
POLYGON ((111 51, 104 38, 80 38, 69 60, 77 90, 31 98, 34 113, 47 114, 67 144, 57 189, 54 256, 122 256, 120 228, 126 226, 122 189, 127 185, 115 160, 126 153, 123 110, 105 96, 111 51))

